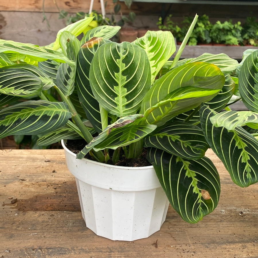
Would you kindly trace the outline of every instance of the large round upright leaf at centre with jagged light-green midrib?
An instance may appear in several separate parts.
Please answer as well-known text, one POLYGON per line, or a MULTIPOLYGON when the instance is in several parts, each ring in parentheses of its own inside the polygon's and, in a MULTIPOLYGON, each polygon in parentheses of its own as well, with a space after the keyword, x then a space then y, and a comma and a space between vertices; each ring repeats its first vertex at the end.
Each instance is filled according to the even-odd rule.
POLYGON ((147 54, 129 42, 103 44, 92 59, 89 78, 93 95, 108 113, 132 115, 150 88, 147 54))

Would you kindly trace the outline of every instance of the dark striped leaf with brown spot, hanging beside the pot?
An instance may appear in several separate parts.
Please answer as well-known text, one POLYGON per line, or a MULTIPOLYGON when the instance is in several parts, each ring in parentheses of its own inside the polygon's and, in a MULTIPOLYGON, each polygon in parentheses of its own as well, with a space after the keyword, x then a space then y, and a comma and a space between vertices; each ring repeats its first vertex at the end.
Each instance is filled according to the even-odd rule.
POLYGON ((210 159, 182 159, 156 148, 148 148, 147 159, 171 206, 183 220, 196 223, 216 208, 220 178, 210 159))

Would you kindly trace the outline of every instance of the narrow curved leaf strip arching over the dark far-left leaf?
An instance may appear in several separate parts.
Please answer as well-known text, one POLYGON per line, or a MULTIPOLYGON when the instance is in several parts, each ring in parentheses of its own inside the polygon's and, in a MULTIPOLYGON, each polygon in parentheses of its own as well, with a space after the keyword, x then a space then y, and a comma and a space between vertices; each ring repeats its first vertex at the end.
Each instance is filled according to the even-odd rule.
POLYGON ((10 65, 6 68, 7 69, 9 69, 9 68, 23 69, 23 70, 26 70, 28 72, 31 72, 31 73, 35 74, 38 78, 40 78, 40 80, 43 83, 42 90, 48 90, 49 88, 51 88, 52 86, 55 85, 54 82, 53 82, 53 79, 50 78, 50 76, 48 76, 47 74, 45 74, 37 66, 31 65, 31 64, 21 63, 21 64, 13 64, 13 65, 10 65))

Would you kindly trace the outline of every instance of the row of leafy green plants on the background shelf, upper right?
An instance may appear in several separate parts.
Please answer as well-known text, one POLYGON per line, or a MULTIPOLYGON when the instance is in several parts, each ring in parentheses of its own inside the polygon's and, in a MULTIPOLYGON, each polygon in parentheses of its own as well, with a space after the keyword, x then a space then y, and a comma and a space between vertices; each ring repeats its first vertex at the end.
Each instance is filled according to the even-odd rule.
MULTIPOLYGON (((160 17, 157 22, 158 28, 171 31, 177 42, 182 42, 190 24, 190 17, 185 17, 181 23, 176 23, 173 21, 172 15, 166 17, 164 22, 160 17)), ((247 17, 243 25, 240 21, 232 23, 232 20, 217 21, 212 24, 207 15, 202 15, 193 29, 188 44, 191 46, 210 43, 257 46, 257 35, 258 21, 256 17, 247 17)))

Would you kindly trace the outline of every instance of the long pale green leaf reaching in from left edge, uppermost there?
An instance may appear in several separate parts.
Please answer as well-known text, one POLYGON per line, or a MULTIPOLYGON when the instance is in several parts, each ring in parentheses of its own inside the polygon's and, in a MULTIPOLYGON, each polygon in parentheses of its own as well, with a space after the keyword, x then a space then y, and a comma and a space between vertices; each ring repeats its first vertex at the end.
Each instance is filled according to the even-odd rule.
POLYGON ((54 51, 45 47, 39 47, 29 43, 20 43, 11 40, 0 39, 0 53, 2 52, 24 54, 36 61, 51 59, 56 62, 66 62, 70 65, 75 65, 73 61, 69 60, 66 56, 58 51, 54 51))

